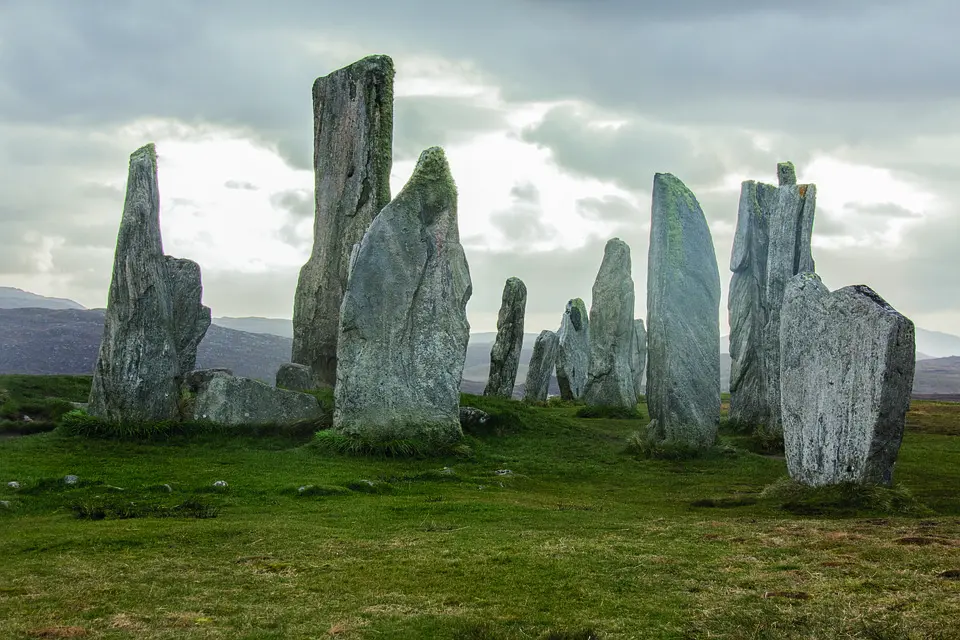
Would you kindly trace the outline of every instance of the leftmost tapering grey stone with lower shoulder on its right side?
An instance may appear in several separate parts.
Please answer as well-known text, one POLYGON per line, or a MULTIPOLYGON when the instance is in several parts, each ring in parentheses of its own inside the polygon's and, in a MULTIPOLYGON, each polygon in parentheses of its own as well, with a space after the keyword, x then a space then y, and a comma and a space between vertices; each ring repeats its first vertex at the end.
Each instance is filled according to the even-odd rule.
POLYGON ((201 294, 196 263, 163 255, 157 154, 148 144, 130 156, 91 415, 111 422, 179 417, 180 378, 210 326, 201 294))

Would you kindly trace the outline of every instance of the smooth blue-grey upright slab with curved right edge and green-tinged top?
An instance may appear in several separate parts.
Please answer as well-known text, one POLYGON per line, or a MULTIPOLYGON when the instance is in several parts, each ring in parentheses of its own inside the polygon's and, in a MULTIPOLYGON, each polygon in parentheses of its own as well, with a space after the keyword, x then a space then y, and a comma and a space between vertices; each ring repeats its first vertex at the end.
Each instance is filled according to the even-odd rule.
POLYGON ((648 438, 709 447, 720 423, 720 272, 700 203, 653 178, 647 267, 648 438))

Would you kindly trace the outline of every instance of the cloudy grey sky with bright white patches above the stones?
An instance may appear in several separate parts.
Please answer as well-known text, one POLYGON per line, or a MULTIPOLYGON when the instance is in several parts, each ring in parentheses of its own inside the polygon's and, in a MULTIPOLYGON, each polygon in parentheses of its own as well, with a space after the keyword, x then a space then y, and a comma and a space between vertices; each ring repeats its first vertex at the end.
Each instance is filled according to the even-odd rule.
POLYGON ((215 316, 289 318, 312 244, 313 80, 396 65, 393 193, 444 147, 473 331, 526 330, 631 247, 656 172, 696 194, 727 330, 740 183, 817 185, 814 258, 960 333, 955 0, 0 0, 0 285, 106 304, 130 153, 157 145, 164 249, 215 316))

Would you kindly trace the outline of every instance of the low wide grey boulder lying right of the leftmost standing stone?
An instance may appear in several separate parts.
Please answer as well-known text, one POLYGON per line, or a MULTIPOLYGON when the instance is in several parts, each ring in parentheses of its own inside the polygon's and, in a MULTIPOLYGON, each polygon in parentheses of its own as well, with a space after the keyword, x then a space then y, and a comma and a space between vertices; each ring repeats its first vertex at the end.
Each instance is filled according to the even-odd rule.
POLYGON ((319 401, 309 394, 222 372, 208 373, 191 398, 194 420, 230 426, 284 425, 313 420, 322 413, 319 401))

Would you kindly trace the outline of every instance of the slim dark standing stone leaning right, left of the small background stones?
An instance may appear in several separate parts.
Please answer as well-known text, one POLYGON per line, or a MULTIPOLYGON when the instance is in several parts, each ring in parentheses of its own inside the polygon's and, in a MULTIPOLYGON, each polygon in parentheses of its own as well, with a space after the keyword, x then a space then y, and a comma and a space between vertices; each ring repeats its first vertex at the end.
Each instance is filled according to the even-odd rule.
POLYGON ((503 287, 497 337, 490 349, 490 375, 483 390, 485 396, 513 397, 523 348, 523 316, 527 307, 527 287, 520 278, 508 278, 503 287))

